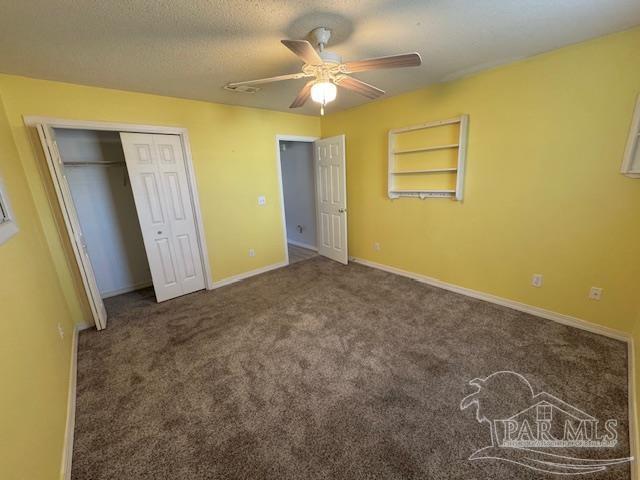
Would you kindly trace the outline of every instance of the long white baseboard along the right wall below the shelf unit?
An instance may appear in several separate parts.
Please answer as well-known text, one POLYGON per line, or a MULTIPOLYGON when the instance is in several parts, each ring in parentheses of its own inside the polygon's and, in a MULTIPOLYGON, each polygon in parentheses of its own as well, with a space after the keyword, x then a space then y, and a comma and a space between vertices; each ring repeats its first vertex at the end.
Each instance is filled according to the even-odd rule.
POLYGON ((503 307, 513 308, 514 310, 518 310, 519 312, 529 313, 537 317, 546 318, 547 320, 553 320, 554 322, 562 323, 563 325, 580 328, 582 330, 587 330, 592 333, 597 333, 600 335, 604 335, 605 337, 614 338, 616 340, 621 340, 627 343, 630 343, 632 341, 632 336, 626 332, 598 325, 581 318, 571 317, 569 315, 564 315, 562 313, 554 312, 551 310, 545 310, 544 308, 540 307, 534 307, 533 305, 516 302, 515 300, 509 300, 508 298, 504 297, 498 297, 496 295, 491 295, 490 293, 484 293, 477 290, 471 290, 470 288, 460 287, 452 283, 443 282, 442 280, 438 280, 437 278, 427 277, 426 275, 409 272, 407 270, 402 270, 396 267, 390 267, 388 265, 372 262, 363 258, 351 257, 349 260, 361 265, 365 265, 367 267, 377 268, 378 270, 384 270, 385 272, 389 273, 395 273, 396 275, 411 278, 421 283, 426 283, 434 287, 443 288, 451 292, 466 295, 467 297, 477 298, 478 300, 495 303, 497 305, 502 305, 503 307))

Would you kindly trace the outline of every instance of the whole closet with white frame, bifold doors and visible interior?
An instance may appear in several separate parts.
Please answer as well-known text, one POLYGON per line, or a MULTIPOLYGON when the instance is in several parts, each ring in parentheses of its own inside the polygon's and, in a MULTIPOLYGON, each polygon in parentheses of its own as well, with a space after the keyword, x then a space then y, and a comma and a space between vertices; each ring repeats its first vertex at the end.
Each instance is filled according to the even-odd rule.
POLYGON ((96 327, 103 299, 153 285, 158 302, 212 288, 187 132, 30 117, 96 327))

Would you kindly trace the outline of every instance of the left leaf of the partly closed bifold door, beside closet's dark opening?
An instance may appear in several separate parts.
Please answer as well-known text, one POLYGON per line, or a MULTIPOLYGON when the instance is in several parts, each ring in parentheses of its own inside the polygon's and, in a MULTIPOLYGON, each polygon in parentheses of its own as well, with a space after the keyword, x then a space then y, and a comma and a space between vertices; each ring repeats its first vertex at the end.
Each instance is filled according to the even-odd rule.
POLYGON ((157 167, 154 135, 121 133, 131 188, 149 260, 156 299, 161 302, 186 293, 173 241, 171 207, 165 199, 157 167))

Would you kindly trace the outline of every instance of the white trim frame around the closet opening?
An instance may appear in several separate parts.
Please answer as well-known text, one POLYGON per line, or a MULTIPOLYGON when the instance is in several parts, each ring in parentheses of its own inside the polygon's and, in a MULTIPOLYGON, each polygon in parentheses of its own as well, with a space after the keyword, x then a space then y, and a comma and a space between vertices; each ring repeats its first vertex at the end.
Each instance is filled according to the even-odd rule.
MULTIPOLYGON (((141 124, 132 124, 132 123, 114 123, 114 122, 96 122, 96 121, 85 121, 85 120, 67 120, 61 118, 52 118, 52 117, 41 117, 41 116, 25 116, 24 123, 27 127, 35 128, 38 125, 45 125, 50 128, 68 128, 68 129, 76 129, 76 130, 107 130, 114 132, 135 132, 135 133, 157 133, 157 134, 168 134, 168 135, 178 135, 180 137, 180 143, 182 145, 182 153, 185 158, 185 165, 187 168, 187 181, 189 184, 189 194, 191 197, 191 204, 193 207, 193 213, 195 217, 196 224, 196 234, 198 239, 198 246, 200 247, 200 254, 202 259, 202 268, 205 277, 205 286, 207 290, 212 290, 214 287, 213 277, 211 274, 211 267, 209 266, 209 253, 207 249, 207 243, 204 234, 204 224, 202 221, 202 213, 200 211, 200 201, 198 197, 198 188, 196 183, 195 171, 193 169, 193 159, 191 157, 191 147, 189 144, 189 132, 186 128, 182 127, 171 127, 171 126, 162 126, 162 125, 141 125, 141 124)), ((42 145, 45 158, 47 160, 47 164, 50 172, 58 172, 61 168, 60 165, 56 165, 53 158, 50 154, 48 154, 46 145, 42 145)), ((59 182, 64 180, 62 176, 52 175, 52 181, 56 187, 56 192, 58 193, 58 205, 61 207, 62 215, 65 220, 65 227, 67 230, 67 234, 69 235, 71 241, 74 241, 73 232, 69 230, 70 219, 68 218, 68 213, 64 208, 65 202, 73 202, 71 198, 65 198, 64 191, 65 189, 60 189, 59 182)), ((82 266, 78 263, 79 260, 76 258, 76 264, 78 268, 82 268, 82 266)), ((87 297, 90 299, 90 292, 87 291, 85 285, 85 293, 87 297)), ((92 312, 93 313, 93 312, 92 312)), ((95 313, 93 313, 94 322, 98 325, 95 313)))

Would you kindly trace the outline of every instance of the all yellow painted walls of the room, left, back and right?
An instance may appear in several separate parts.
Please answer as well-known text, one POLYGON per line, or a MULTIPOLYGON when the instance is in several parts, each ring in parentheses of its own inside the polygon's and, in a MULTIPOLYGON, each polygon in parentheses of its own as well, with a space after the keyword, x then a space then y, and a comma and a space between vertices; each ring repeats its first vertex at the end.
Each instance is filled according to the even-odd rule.
POLYGON ((0 174, 21 227, 0 246, 3 478, 58 476, 71 328, 88 320, 23 115, 188 128, 216 280, 283 260, 275 135, 344 133, 351 255, 634 332, 640 342, 640 182, 619 174, 640 93, 639 45, 635 29, 322 124, 0 75, 0 174), (387 199, 387 131, 460 113, 471 117, 465 201, 387 199), (545 275, 543 288, 530 286, 533 273, 545 275), (586 298, 592 285, 604 288, 600 302, 586 298))

